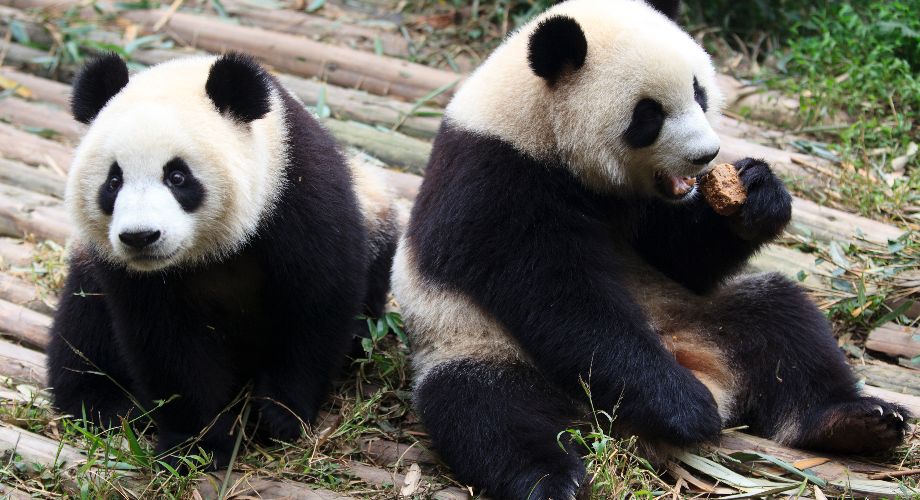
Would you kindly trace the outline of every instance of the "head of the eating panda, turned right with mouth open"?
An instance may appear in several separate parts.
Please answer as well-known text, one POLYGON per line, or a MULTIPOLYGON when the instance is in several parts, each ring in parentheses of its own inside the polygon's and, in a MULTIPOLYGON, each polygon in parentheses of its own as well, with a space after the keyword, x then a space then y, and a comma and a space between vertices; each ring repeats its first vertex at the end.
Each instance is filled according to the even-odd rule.
POLYGON ((569 0, 509 36, 448 107, 600 191, 689 198, 719 151, 711 59, 677 1, 569 0))

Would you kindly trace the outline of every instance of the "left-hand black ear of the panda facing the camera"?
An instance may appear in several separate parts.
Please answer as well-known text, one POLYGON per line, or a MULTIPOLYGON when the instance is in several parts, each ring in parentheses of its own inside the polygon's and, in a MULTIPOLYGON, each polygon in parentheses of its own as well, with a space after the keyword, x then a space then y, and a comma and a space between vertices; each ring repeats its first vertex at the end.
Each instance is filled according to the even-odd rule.
POLYGON ((127 84, 125 62, 114 53, 102 54, 86 63, 74 79, 70 112, 78 122, 88 124, 127 84))

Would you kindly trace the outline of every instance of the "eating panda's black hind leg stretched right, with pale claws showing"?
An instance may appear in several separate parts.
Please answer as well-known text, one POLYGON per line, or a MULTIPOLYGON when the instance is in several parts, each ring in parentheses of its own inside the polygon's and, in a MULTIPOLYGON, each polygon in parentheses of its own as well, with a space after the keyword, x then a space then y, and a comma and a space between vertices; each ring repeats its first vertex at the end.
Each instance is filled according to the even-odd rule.
POLYGON ((860 394, 830 324, 797 285, 778 274, 722 289, 716 341, 740 374, 732 424, 792 446, 872 452, 899 444, 908 413, 860 394))

